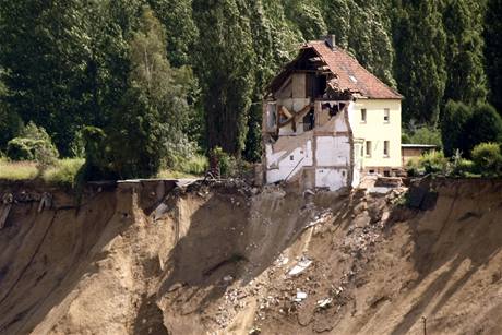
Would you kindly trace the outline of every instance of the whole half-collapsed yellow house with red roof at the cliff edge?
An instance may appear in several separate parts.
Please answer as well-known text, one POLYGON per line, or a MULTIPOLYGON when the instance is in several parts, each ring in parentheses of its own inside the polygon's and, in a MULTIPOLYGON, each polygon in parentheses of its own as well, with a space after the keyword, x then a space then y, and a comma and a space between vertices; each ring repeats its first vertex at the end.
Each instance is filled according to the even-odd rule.
POLYGON ((335 45, 309 41, 271 82, 263 104, 267 183, 332 191, 402 166, 402 96, 335 45))

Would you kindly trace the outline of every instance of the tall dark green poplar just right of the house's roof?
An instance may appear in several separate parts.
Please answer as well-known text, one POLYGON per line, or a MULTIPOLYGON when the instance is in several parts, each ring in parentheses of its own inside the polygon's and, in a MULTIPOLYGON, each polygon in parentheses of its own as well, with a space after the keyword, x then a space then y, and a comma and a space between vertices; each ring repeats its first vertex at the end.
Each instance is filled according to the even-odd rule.
POLYGON ((395 79, 404 95, 403 120, 435 125, 446 83, 442 3, 395 1, 395 79))

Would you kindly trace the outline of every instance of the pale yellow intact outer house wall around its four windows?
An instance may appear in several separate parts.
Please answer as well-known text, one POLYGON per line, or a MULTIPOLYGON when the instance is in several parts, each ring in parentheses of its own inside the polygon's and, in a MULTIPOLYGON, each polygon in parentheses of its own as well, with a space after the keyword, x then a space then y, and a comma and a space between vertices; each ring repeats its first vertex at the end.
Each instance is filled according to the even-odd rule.
POLYGON ((351 110, 354 136, 364 140, 363 167, 401 167, 401 100, 358 99, 351 110), (367 110, 362 122, 361 109, 367 110), (384 108, 390 109, 390 121, 383 119, 384 108), (366 153, 366 141, 371 141, 371 157, 366 153), (389 157, 383 155, 384 141, 390 141, 389 157))

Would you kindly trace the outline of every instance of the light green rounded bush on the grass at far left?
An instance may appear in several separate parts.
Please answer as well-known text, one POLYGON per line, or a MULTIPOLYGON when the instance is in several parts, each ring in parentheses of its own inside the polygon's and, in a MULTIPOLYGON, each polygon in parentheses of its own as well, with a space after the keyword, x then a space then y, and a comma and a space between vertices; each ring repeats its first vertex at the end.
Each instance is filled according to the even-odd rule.
POLYGON ((59 154, 44 128, 29 122, 19 137, 9 141, 7 156, 12 160, 35 160, 48 166, 55 163, 59 154))

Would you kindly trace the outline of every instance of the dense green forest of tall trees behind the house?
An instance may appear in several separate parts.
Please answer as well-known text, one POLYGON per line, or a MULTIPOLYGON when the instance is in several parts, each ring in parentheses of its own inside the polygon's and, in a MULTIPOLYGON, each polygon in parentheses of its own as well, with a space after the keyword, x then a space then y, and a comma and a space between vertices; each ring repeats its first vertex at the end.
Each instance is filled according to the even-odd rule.
POLYGON ((92 178, 215 147, 256 161, 265 85, 299 44, 335 34, 404 95, 408 137, 468 152, 502 134, 501 13, 501 0, 1 0, 0 151, 50 137, 92 178))

